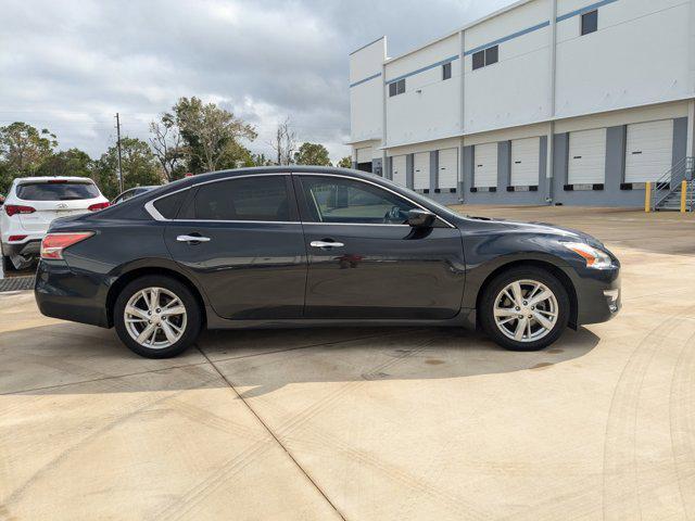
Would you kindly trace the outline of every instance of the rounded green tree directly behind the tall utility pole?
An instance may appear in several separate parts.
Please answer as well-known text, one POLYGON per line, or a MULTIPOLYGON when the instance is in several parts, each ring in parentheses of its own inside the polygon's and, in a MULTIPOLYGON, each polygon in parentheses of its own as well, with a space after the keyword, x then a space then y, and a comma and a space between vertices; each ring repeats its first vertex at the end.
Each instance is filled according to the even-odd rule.
MULTIPOLYGON (((141 139, 121 138, 121 154, 124 190, 161 185, 164 180, 154 154, 141 139)), ((94 164, 93 179, 109 199, 118 194, 117 165, 118 149, 115 145, 110 147, 94 164)))

